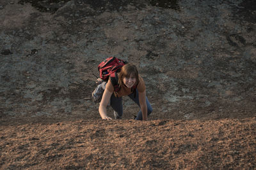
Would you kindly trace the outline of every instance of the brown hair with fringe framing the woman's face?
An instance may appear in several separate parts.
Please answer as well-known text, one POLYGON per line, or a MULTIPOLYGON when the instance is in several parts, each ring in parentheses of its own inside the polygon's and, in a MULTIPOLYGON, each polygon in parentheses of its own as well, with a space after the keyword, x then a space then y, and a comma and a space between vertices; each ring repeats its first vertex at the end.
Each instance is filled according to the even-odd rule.
POLYGON ((120 86, 124 85, 124 78, 127 77, 131 77, 131 76, 135 76, 136 78, 136 84, 139 83, 139 73, 138 73, 138 69, 134 64, 125 64, 121 71, 120 74, 118 75, 118 84, 120 86))

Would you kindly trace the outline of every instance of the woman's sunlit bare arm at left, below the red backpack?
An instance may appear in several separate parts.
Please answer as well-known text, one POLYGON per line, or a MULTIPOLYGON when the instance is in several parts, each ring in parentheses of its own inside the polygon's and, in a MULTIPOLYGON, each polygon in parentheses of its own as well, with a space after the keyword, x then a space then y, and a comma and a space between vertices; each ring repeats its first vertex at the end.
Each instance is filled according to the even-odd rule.
POLYGON ((108 89, 104 90, 104 93, 102 95, 102 99, 100 101, 100 106, 99 106, 99 113, 100 117, 104 120, 111 120, 110 117, 107 115, 107 106, 110 101, 110 98, 112 96, 113 92, 109 92, 108 89))

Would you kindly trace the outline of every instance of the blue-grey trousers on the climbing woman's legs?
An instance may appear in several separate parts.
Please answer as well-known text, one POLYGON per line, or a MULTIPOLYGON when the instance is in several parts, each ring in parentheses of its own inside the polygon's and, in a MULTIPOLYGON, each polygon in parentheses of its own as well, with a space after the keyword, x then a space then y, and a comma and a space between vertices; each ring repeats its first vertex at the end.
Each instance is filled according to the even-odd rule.
MULTIPOLYGON (((139 101, 139 94, 138 90, 136 89, 136 96, 134 97, 134 93, 130 94, 129 97, 134 101, 135 103, 138 104, 140 107, 140 101, 139 101)), ((148 115, 152 112, 152 107, 150 103, 148 102, 148 98, 146 96, 146 102, 147 102, 147 109, 148 109, 148 115)), ((114 116, 116 119, 122 118, 123 115, 123 102, 122 102, 122 97, 115 97, 114 94, 112 94, 111 99, 110 99, 110 105, 115 110, 114 116)), ((142 112, 141 110, 139 111, 137 117, 135 118, 136 120, 142 120, 142 112)))

